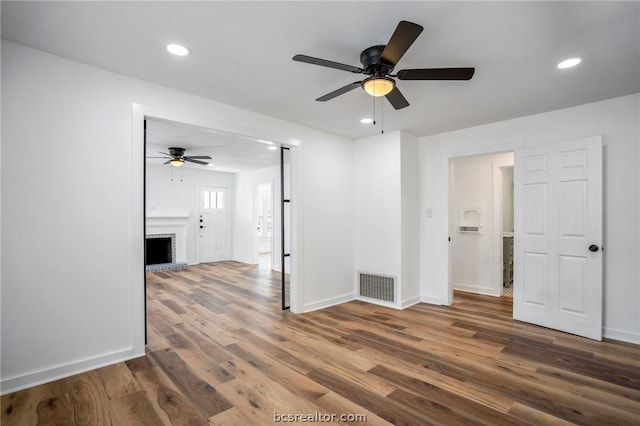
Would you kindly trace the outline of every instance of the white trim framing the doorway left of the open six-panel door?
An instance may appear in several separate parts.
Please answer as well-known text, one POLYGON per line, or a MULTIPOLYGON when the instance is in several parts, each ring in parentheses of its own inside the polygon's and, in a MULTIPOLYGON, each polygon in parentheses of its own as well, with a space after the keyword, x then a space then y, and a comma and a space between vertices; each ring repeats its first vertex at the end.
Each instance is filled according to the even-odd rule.
MULTIPOLYGON (((438 242, 438 252, 440 253, 439 276, 439 294, 440 304, 449 306, 453 303, 453 286, 451 284, 451 268, 450 268, 450 246, 449 237, 451 236, 451 214, 449 211, 449 191, 451 190, 451 162, 458 157, 473 157, 488 154, 500 154, 502 152, 515 151, 525 146, 523 139, 509 140, 497 144, 487 144, 483 146, 470 146, 459 149, 444 151, 441 157, 440 179, 442 182, 442 199, 440 200, 440 208, 445 214, 442 215, 442 235, 438 242)), ((515 206, 514 206, 515 209, 515 206)))

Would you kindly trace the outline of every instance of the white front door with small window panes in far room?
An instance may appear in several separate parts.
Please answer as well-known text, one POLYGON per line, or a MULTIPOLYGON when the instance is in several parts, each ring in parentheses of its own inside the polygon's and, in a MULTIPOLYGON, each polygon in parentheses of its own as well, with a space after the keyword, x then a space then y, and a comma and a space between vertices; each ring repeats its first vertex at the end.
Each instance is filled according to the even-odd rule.
POLYGON ((200 214, 196 223, 200 263, 229 259, 229 190, 200 187, 200 214))

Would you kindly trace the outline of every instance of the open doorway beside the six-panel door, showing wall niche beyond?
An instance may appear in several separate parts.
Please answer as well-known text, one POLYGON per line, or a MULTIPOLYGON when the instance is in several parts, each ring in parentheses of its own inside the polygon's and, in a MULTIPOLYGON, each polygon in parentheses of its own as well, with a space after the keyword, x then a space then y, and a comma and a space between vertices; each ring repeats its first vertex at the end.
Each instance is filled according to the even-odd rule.
POLYGON ((512 300, 513 160, 513 152, 450 160, 449 286, 452 291, 512 300))

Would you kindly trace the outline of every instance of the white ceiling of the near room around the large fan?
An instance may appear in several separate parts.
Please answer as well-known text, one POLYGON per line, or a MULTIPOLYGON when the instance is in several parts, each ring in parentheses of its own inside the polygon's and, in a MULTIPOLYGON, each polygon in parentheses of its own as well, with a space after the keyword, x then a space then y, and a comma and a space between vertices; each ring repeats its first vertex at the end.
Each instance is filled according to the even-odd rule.
POLYGON ((411 105, 384 101, 385 131, 425 136, 640 92, 637 1, 2 2, 4 39, 350 138, 380 132, 380 117, 375 127, 359 122, 373 98, 356 89, 314 99, 359 76, 291 58, 359 66, 360 52, 385 44, 400 20, 424 32, 396 71, 476 74, 399 81, 411 105), (173 41, 193 54, 168 55, 173 41), (556 69, 572 56, 584 62, 556 69))

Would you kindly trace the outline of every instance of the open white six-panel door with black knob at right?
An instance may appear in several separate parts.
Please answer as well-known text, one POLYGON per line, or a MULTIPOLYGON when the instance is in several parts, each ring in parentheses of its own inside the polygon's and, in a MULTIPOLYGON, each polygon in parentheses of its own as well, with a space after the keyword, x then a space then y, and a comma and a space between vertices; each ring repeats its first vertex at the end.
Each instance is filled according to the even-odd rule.
POLYGON ((602 339, 602 138, 515 151, 516 320, 602 339))

